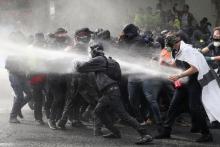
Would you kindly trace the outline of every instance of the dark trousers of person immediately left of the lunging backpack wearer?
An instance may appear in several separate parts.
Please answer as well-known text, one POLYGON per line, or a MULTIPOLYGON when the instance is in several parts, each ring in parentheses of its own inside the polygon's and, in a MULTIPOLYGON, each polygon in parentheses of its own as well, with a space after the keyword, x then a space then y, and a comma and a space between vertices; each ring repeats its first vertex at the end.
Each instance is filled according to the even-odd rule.
POLYGON ((67 82, 66 102, 60 119, 63 124, 68 118, 80 121, 81 114, 86 111, 88 105, 93 108, 96 105, 98 94, 94 85, 87 74, 80 75, 70 78, 67 82))

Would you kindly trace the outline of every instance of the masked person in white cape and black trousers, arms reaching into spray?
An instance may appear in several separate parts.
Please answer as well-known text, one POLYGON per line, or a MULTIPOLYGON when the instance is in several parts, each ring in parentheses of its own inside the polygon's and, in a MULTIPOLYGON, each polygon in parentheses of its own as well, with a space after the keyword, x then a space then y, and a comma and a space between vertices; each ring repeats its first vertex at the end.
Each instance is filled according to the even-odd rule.
MULTIPOLYGON (((209 82, 212 81, 215 84, 217 84, 217 82, 212 79, 211 81, 206 81, 202 84, 203 76, 210 71, 208 64, 202 54, 192 48, 192 46, 181 41, 177 34, 169 34, 167 36, 166 46, 171 48, 172 55, 176 59, 173 65, 178 66, 178 64, 180 64, 180 66, 184 69, 182 73, 170 76, 170 80, 177 81, 186 76, 188 76, 189 79, 182 87, 176 89, 166 121, 163 125, 164 131, 156 136, 156 138, 161 139, 170 137, 171 127, 176 117, 181 113, 181 102, 184 100, 184 97, 188 97, 192 121, 196 124, 198 132, 202 134, 202 136, 196 141, 213 141, 212 135, 206 123, 203 105, 207 113, 210 113, 210 111, 215 113, 215 108, 211 109, 210 101, 208 102, 207 99, 208 93, 205 93, 206 91, 204 90, 208 90, 207 84, 209 84, 209 82)), ((217 91, 219 90, 218 87, 215 88, 217 88, 217 91)), ((210 121, 213 121, 214 118, 210 115, 210 121)))

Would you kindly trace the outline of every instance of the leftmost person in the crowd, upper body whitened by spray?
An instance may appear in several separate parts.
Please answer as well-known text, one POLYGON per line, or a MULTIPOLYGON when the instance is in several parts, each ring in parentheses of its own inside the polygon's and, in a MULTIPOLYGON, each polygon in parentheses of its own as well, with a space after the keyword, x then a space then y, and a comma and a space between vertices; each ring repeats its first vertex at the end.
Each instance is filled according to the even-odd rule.
MULTIPOLYGON (((10 34, 9 38, 13 43, 21 44, 24 42, 24 36, 20 32, 10 34)), ((5 68, 9 72, 9 81, 14 90, 14 102, 10 114, 10 123, 20 123, 17 116, 23 118, 21 113, 22 107, 31 99, 31 90, 28 83, 28 68, 25 66, 24 56, 8 56, 5 68), (25 96, 26 95, 26 96, 25 96)))

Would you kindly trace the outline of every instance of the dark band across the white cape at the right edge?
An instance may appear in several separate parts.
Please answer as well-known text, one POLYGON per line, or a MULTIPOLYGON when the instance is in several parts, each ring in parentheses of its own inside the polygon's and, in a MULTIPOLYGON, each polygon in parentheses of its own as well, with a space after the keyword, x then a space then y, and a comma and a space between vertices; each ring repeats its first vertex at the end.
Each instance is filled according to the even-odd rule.
POLYGON ((203 78, 199 80, 199 84, 202 87, 205 87, 213 80, 216 80, 218 83, 218 86, 220 87, 220 79, 219 79, 217 73, 213 69, 210 69, 209 72, 206 73, 205 75, 203 75, 203 78))

